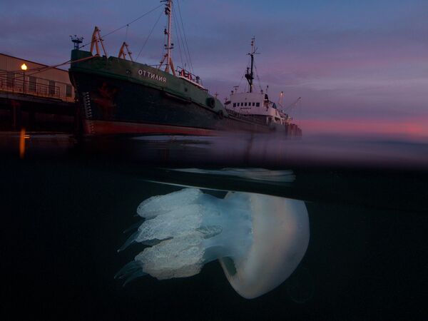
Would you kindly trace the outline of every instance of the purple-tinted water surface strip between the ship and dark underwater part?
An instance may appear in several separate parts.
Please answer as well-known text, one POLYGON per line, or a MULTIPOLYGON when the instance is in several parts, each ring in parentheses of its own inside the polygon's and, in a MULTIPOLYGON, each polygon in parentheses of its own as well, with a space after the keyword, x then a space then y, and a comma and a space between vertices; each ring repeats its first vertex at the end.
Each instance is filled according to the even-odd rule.
MULTIPOLYGON (((19 155, 19 133, 0 133, 1 153, 19 155)), ((222 168, 338 167, 423 169, 428 139, 404 136, 308 136, 268 134, 227 136, 93 136, 26 133, 26 157, 65 157, 72 153, 105 161, 222 168)), ((261 173, 265 175, 265 173, 261 173)), ((258 173, 255 175, 258 175, 258 173)))

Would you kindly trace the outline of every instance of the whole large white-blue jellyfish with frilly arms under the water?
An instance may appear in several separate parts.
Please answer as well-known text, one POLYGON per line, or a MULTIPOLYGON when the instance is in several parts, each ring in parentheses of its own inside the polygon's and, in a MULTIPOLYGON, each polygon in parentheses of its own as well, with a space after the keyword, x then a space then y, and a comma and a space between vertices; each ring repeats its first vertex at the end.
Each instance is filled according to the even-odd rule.
POLYGON ((309 243, 301 200, 243 192, 216 198, 185 188, 148 198, 137 213, 143 223, 120 250, 147 247, 116 274, 125 283, 143 275, 190 277, 219 260, 233 289, 250 299, 286 280, 309 243))

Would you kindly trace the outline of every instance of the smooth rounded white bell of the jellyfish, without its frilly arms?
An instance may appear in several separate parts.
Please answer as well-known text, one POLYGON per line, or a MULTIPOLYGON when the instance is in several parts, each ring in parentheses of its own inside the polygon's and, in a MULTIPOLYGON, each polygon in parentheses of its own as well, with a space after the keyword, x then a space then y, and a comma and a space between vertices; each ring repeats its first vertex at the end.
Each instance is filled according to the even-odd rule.
POLYGON ((248 253, 235 260, 234 267, 228 258, 219 259, 230 285, 248 299, 285 281, 302 260, 309 243, 304 202, 250 193, 250 203, 253 243, 248 253))

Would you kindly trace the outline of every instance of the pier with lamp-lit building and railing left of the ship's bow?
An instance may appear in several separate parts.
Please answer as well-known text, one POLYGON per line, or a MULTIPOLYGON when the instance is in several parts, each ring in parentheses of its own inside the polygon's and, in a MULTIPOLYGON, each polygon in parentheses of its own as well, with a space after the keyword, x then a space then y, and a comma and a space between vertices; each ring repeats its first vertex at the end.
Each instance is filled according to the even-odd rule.
POLYGON ((68 71, 0 54, 0 130, 76 128, 74 88, 68 71))

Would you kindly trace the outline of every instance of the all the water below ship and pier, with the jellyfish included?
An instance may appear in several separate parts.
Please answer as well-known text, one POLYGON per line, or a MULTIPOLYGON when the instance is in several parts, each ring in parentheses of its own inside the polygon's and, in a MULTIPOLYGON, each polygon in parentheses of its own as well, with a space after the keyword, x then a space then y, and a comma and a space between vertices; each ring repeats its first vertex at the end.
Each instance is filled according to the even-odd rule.
POLYGON ((25 139, 0 135, 1 320, 427 317, 424 139, 25 139))

